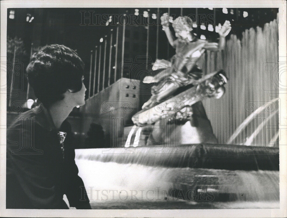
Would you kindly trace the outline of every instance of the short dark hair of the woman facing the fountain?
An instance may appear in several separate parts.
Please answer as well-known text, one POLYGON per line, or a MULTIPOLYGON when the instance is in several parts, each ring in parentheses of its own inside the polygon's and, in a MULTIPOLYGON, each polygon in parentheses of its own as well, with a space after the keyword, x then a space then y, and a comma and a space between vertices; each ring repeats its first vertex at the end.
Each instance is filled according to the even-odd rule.
POLYGON ((84 62, 64 45, 46 45, 34 53, 26 72, 38 101, 49 107, 62 100, 67 89, 81 90, 84 62))

